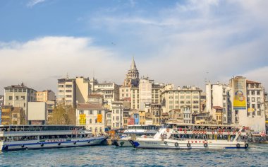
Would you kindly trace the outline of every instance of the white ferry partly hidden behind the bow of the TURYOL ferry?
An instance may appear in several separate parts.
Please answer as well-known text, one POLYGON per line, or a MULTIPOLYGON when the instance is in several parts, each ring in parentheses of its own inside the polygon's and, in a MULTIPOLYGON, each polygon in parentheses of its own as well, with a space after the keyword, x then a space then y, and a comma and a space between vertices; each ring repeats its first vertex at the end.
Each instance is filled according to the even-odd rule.
POLYGON ((128 125, 121 137, 118 137, 114 145, 116 146, 132 146, 129 139, 133 137, 152 138, 157 133, 159 127, 156 125, 128 125))

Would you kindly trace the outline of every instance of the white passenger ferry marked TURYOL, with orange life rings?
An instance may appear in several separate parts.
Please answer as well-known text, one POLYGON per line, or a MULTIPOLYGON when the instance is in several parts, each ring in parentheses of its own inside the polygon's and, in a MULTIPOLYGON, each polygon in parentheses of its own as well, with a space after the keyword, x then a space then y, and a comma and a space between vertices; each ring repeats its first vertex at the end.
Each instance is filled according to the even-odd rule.
POLYGON ((153 138, 133 138, 137 149, 247 149, 248 128, 168 123, 153 138))

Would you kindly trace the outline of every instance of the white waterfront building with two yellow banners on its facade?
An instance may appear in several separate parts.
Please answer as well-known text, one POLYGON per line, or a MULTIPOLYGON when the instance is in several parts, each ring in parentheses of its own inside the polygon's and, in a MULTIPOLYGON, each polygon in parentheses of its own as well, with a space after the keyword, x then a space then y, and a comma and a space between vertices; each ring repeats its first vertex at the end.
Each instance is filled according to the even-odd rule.
POLYGON ((76 125, 85 125, 92 132, 104 132, 106 127, 106 110, 100 103, 78 103, 76 125))

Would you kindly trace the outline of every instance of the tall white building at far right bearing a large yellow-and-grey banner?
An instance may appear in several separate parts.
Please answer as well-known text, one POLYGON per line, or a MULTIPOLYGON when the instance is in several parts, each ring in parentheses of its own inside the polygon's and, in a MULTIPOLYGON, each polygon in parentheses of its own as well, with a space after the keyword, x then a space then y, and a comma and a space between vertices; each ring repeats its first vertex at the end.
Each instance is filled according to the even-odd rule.
POLYGON ((264 88, 259 82, 236 76, 230 79, 233 99, 233 123, 245 125, 255 132, 265 131, 264 88))

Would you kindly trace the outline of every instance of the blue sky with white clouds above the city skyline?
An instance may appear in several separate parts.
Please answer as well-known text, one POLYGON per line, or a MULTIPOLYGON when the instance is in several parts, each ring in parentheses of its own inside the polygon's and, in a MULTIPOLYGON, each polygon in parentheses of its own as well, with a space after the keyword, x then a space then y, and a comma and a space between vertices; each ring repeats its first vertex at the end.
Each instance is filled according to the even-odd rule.
POLYGON ((57 91, 85 76, 123 84, 134 57, 140 77, 175 86, 268 88, 266 0, 1 0, 0 94, 22 82, 57 91))

